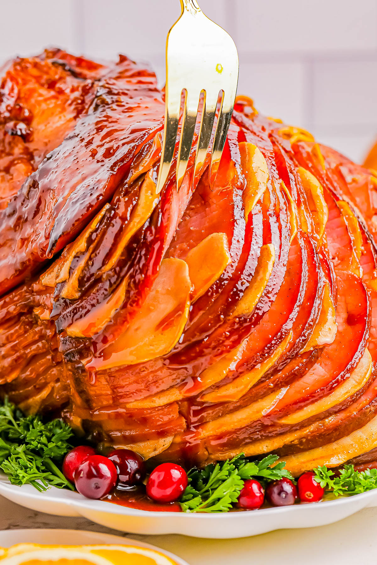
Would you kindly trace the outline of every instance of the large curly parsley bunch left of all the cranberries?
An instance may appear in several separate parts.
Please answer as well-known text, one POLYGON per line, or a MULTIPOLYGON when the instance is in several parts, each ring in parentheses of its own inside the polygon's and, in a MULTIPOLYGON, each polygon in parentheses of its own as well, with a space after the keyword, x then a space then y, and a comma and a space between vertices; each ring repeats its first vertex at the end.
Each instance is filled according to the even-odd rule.
POLYGON ((62 420, 44 423, 39 416, 24 416, 5 399, 0 406, 0 468, 14 485, 31 484, 40 492, 51 485, 75 490, 59 469, 72 436, 62 420))

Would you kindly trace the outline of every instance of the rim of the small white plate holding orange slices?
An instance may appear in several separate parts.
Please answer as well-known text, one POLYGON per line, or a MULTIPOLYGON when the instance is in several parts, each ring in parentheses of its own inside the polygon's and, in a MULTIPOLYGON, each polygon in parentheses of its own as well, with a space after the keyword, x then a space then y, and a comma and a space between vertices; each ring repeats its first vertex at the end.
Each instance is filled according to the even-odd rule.
POLYGON ((127 537, 111 536, 108 533, 85 532, 66 529, 17 529, 0 531, 0 547, 10 547, 15 544, 46 544, 46 545, 136 545, 155 549, 174 560, 177 565, 188 565, 186 561, 154 545, 142 541, 129 540, 127 537), (58 540, 58 541, 57 541, 58 540))

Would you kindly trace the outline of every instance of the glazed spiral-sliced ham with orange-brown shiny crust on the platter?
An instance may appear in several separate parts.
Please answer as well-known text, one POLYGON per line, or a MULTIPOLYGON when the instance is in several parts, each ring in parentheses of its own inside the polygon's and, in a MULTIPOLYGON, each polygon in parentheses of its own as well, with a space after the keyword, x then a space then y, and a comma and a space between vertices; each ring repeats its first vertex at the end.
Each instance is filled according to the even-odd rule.
POLYGON ((3 69, 2 395, 156 462, 362 463, 375 173, 239 97, 215 183, 192 154, 157 194, 163 114, 155 75, 124 56, 3 69))

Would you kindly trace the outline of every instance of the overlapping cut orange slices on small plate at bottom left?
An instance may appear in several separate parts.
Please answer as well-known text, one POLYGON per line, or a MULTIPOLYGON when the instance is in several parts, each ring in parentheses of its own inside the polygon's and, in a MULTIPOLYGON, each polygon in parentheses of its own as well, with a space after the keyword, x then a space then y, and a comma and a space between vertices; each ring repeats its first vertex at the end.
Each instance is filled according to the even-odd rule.
POLYGON ((2 565, 177 565, 163 553, 135 545, 18 544, 3 550, 2 565))

